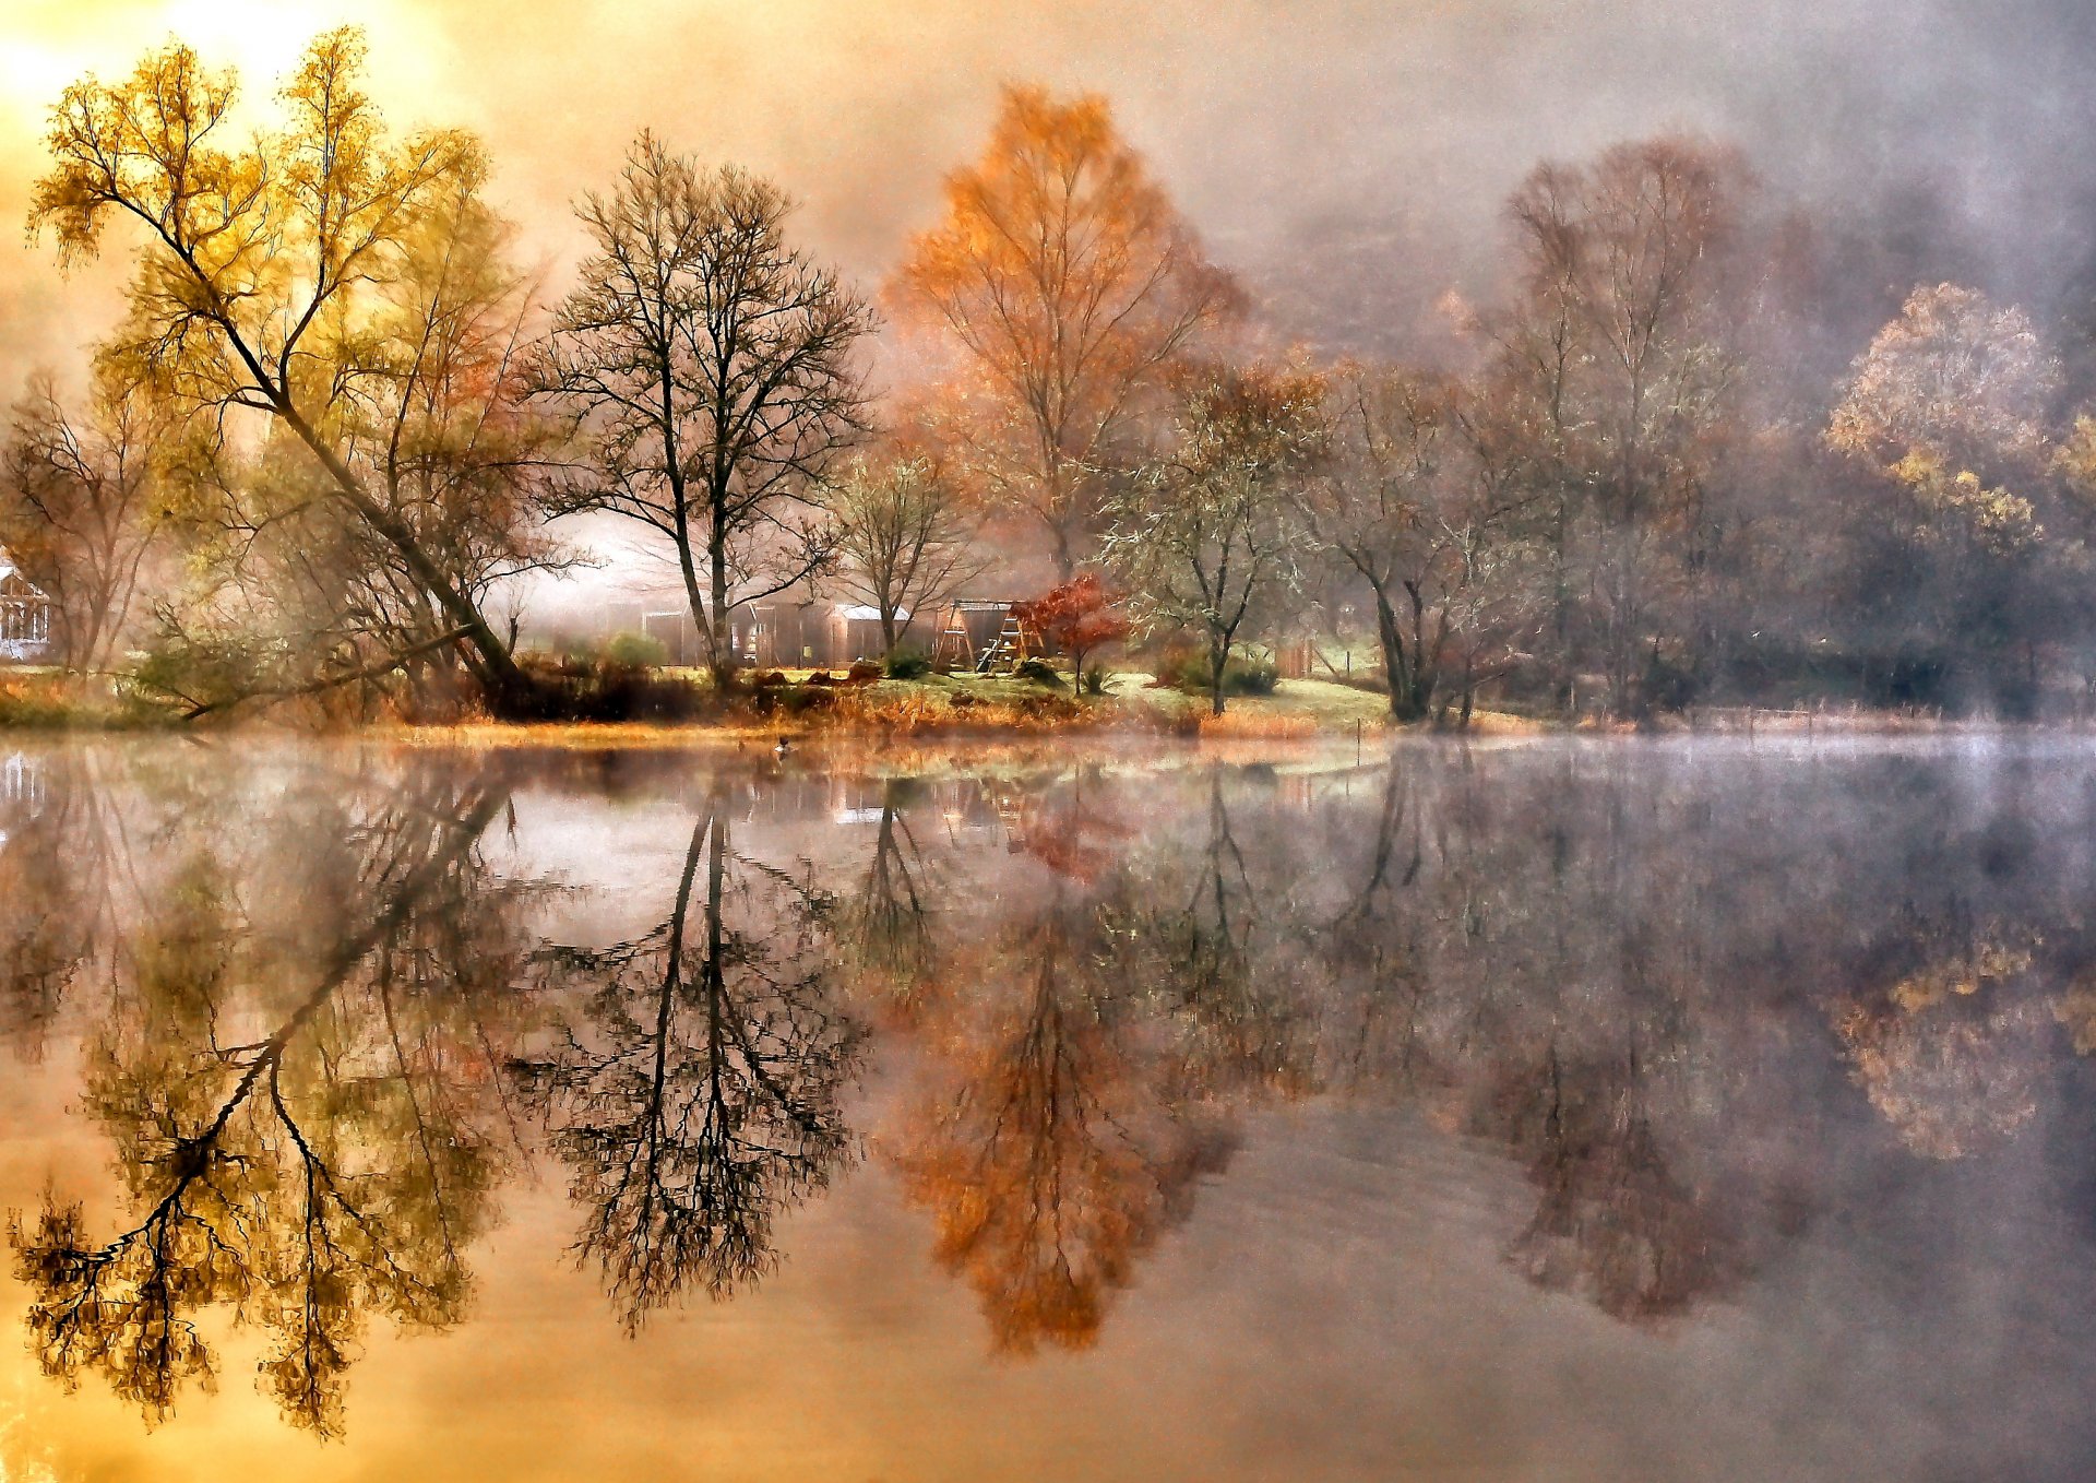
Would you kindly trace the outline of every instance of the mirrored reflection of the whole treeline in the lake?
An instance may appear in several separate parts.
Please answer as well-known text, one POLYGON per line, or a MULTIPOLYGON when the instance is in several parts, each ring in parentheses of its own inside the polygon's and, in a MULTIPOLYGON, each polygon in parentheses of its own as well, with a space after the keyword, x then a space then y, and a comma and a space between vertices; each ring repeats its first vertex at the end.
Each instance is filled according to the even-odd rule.
POLYGON ((1488 1149, 1509 1275, 1681 1324, 1853 1168, 2090 1105, 2073 751, 226 764, 25 753, 0 799, 0 1036, 78 1057, 113 1154, 4 1191, 23 1317, 149 1422, 237 1324, 337 1435, 373 1319, 465 1324, 534 1168, 639 1330, 759 1288, 864 1149, 1025 1355, 1098 1345, 1289 1108, 1488 1149))

